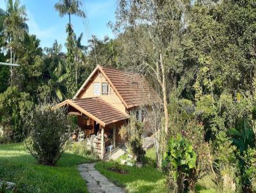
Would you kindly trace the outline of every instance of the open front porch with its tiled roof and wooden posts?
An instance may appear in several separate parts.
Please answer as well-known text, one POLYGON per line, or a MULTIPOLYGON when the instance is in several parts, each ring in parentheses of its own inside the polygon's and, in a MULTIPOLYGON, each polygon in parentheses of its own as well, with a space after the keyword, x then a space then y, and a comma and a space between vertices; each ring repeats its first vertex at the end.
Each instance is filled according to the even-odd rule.
MULTIPOLYGON (((118 130, 129 118, 122 112, 99 97, 79 100, 65 100, 53 109, 67 107, 67 113, 77 116, 77 124, 83 130, 84 137, 92 139, 93 148, 100 158, 122 143, 118 130)), ((74 139, 78 137, 75 133, 74 139)))

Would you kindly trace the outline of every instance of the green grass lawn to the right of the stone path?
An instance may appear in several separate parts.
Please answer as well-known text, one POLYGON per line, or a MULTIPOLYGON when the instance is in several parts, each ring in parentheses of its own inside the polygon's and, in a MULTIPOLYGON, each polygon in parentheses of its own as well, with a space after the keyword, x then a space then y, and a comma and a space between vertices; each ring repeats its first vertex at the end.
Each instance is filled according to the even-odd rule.
MULTIPOLYGON (((127 171, 127 174, 120 174, 109 171, 109 168, 115 166, 115 162, 98 162, 95 164, 97 170, 104 176, 109 178, 113 183, 124 187, 128 192, 166 192, 164 185, 164 176, 156 169, 156 153, 154 148, 149 149, 146 153, 149 166, 138 168, 122 165, 122 169, 127 171)), ((116 162, 120 163, 121 159, 127 158, 127 154, 118 158, 116 162)), ((200 193, 215 193, 215 185, 212 182, 212 176, 209 174, 202 180, 199 180, 196 185, 197 192, 200 193)))

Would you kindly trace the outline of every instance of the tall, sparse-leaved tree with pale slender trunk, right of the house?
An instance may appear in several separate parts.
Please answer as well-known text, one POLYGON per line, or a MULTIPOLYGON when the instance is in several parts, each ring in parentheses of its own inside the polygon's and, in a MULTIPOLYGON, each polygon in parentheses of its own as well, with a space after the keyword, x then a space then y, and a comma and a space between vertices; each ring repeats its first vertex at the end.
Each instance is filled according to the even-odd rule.
MULTIPOLYGON (((135 65, 150 72, 160 86, 164 106, 164 131, 168 134, 168 80, 176 85, 176 55, 180 51, 180 36, 184 23, 182 17, 190 1, 133 1, 119 0, 116 26, 131 31, 127 38, 133 55, 140 61, 135 65), (132 49, 131 49, 132 48, 132 49)), ((134 58, 134 57, 132 57, 134 58)))

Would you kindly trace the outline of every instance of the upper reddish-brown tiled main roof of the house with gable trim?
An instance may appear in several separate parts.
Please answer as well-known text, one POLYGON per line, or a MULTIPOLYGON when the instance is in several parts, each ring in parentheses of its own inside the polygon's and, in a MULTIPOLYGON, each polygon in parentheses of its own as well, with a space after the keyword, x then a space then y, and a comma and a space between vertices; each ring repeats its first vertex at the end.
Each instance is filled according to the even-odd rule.
POLYGON ((161 102, 161 98, 159 95, 157 95, 152 86, 148 84, 148 81, 145 79, 145 77, 143 77, 143 75, 132 72, 124 72, 122 70, 113 68, 106 68, 99 65, 97 68, 95 68, 95 70, 93 70, 92 74, 84 82, 79 91, 77 91, 74 98, 81 93, 88 81, 98 70, 102 73, 102 75, 104 75, 109 84, 111 84, 127 109, 146 105, 150 102, 161 102))

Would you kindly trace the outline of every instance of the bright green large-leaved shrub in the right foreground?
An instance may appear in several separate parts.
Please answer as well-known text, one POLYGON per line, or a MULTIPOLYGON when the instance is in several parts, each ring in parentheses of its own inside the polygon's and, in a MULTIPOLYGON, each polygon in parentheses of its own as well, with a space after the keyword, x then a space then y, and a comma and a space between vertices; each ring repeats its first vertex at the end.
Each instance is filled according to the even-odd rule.
POLYGON ((163 173, 169 190, 188 192, 195 189, 193 175, 196 169, 196 153, 193 146, 180 134, 171 137, 163 160, 163 173))

